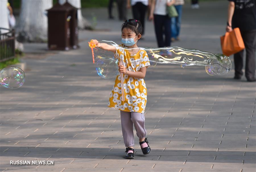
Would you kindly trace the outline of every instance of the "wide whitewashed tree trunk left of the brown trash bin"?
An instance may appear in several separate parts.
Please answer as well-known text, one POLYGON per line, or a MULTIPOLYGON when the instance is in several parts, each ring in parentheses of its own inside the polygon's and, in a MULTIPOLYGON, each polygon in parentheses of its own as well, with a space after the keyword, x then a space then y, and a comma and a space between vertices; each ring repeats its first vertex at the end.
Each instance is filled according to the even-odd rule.
POLYGON ((52 7, 52 0, 22 0, 20 17, 16 27, 20 42, 46 42, 48 18, 46 10, 52 7))

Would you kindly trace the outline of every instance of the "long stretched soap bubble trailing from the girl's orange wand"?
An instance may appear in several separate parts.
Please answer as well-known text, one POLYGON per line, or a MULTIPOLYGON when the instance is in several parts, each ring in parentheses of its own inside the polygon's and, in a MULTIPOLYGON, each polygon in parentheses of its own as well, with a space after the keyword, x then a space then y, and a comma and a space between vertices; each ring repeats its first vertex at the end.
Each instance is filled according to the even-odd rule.
MULTIPOLYGON (((99 41, 100 43, 107 43, 109 45, 115 45, 118 46, 115 42, 112 41, 99 41)), ((89 44, 90 45, 90 44, 89 44)), ((94 51, 94 57, 97 59, 113 59, 115 61, 114 53, 111 51, 106 51, 104 49, 100 49, 97 47, 93 48, 94 51)), ((123 49, 128 49, 123 47, 123 49)), ((232 63, 230 61, 230 58, 223 55, 223 54, 212 54, 209 52, 204 52, 196 49, 184 49, 181 47, 163 47, 163 48, 131 48, 128 49, 129 51, 132 51, 134 49, 143 49, 148 54, 148 59, 150 61, 150 67, 154 67, 157 63, 171 63, 171 64, 178 64, 181 65, 182 68, 185 68, 186 66, 204 66, 205 71, 209 75, 224 75, 227 72, 230 71, 232 67, 232 63)), ((136 60, 130 60, 128 63, 134 63, 144 61, 144 59, 136 59, 136 60)), ((147 60, 145 60, 147 61, 147 60)), ((105 61, 107 63, 107 61, 105 61)), ((111 61, 108 60, 110 63, 111 61)), ((118 63, 117 63, 118 64, 118 63)), ((114 68, 115 63, 111 63, 108 66, 110 68, 114 68)), ((96 68, 97 69, 97 68, 96 68)), ((118 68, 116 68, 117 71, 109 71, 108 76, 115 76, 118 74, 118 68)), ((98 71, 97 71, 98 72, 98 71)), ((104 74, 101 74, 99 71, 98 74, 100 76, 104 76, 104 74)), ((108 78, 108 77, 105 77, 108 78)))

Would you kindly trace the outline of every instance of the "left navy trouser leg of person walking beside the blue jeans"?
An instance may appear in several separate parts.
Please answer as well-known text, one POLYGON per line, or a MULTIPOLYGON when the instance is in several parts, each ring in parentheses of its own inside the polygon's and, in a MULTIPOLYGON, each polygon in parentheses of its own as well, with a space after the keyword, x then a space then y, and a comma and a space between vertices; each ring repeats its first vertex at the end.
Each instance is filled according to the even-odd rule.
POLYGON ((158 47, 164 47, 164 38, 163 38, 163 26, 164 26, 164 18, 163 15, 154 14, 154 26, 156 33, 156 40, 158 47))

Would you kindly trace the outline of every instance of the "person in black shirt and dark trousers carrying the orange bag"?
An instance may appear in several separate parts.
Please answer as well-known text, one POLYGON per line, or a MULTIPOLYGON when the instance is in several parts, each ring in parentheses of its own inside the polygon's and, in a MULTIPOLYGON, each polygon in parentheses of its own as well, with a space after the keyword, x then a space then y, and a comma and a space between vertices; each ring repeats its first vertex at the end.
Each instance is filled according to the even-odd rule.
MULTIPOLYGON (((228 0, 228 22, 226 31, 239 28, 246 50, 245 77, 255 82, 256 61, 256 0, 228 0)), ((235 77, 243 75, 243 50, 234 54, 235 77)))

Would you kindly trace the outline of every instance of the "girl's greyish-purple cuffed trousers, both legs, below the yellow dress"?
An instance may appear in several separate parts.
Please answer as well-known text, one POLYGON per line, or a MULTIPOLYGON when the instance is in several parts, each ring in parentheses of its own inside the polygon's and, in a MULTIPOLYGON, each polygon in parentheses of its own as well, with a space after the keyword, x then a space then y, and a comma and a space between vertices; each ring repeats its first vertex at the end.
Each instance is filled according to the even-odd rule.
POLYGON ((126 147, 134 146, 133 125, 139 138, 146 137, 144 113, 120 111, 123 142, 126 147))

